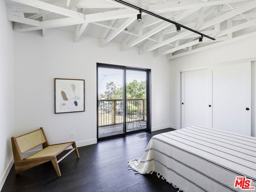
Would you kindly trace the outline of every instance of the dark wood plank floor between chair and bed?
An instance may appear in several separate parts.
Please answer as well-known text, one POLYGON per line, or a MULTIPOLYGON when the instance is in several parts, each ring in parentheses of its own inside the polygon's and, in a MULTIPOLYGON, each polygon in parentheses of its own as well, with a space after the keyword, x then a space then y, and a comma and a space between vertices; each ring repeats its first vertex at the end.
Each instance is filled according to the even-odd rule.
POLYGON ((19 174, 12 166, 1 192, 176 192, 156 174, 128 170, 127 161, 142 157, 151 136, 130 135, 80 147, 79 159, 72 153, 59 163, 61 177, 51 162, 19 174))

